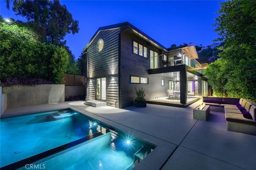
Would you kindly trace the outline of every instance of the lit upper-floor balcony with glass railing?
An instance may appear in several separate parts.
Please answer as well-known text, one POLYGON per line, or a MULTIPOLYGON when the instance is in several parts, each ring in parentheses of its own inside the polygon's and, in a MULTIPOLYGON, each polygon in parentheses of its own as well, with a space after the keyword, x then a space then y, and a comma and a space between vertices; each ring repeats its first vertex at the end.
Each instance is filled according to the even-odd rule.
POLYGON ((182 64, 193 67, 199 73, 202 73, 202 69, 206 68, 208 65, 207 63, 203 65, 198 63, 185 49, 150 57, 150 69, 173 67, 182 64))

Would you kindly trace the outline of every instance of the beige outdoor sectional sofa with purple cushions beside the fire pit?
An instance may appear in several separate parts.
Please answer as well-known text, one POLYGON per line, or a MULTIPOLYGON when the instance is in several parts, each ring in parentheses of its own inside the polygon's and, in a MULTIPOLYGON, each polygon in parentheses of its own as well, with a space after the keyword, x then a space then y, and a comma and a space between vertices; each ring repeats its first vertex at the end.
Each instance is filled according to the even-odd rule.
POLYGON ((256 103, 224 97, 203 97, 203 102, 214 107, 224 107, 227 130, 256 135, 256 103))

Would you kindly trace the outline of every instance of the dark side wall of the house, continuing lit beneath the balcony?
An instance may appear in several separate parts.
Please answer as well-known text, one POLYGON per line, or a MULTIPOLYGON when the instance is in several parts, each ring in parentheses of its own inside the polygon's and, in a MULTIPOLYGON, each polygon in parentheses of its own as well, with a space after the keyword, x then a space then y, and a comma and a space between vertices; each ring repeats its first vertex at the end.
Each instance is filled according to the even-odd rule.
POLYGON ((135 89, 143 88, 145 90, 145 99, 155 99, 167 97, 168 80, 170 77, 166 75, 153 74, 148 75, 150 69, 150 53, 149 50, 163 53, 154 45, 134 36, 130 32, 121 34, 120 43, 120 92, 121 92, 121 107, 134 105, 136 98, 135 89), (148 48, 148 58, 133 53, 133 41, 140 43, 148 48), (148 84, 130 84, 130 76, 148 77, 148 84), (165 80, 165 85, 161 85, 161 79, 165 80))

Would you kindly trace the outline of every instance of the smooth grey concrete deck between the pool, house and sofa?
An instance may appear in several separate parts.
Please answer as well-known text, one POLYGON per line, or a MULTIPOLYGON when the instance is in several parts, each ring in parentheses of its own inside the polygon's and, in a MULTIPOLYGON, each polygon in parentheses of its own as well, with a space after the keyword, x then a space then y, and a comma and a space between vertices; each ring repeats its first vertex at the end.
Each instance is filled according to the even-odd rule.
POLYGON ((147 104, 146 108, 91 107, 84 101, 8 108, 2 117, 46 109, 71 108, 157 147, 135 170, 254 170, 256 136, 226 130, 224 113, 210 111, 208 121, 193 119, 199 101, 181 108, 147 104))

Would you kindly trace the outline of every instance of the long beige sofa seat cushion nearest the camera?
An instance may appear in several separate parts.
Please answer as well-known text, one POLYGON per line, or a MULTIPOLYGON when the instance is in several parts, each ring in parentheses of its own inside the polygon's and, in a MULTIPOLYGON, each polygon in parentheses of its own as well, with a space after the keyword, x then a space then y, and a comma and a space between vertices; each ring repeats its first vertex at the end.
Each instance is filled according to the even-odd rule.
POLYGON ((242 114, 225 113, 226 121, 244 123, 256 126, 256 122, 252 119, 246 119, 242 114))

